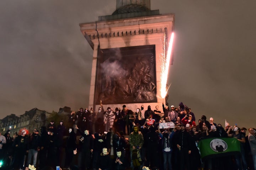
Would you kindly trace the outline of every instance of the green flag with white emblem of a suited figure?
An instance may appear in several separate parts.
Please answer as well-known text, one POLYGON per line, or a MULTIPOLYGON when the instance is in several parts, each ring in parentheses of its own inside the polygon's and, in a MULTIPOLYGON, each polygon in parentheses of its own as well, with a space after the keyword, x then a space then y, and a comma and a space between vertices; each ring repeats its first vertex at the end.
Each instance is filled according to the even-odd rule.
POLYGON ((240 153, 240 142, 236 138, 205 138, 199 141, 201 159, 210 159, 240 153))

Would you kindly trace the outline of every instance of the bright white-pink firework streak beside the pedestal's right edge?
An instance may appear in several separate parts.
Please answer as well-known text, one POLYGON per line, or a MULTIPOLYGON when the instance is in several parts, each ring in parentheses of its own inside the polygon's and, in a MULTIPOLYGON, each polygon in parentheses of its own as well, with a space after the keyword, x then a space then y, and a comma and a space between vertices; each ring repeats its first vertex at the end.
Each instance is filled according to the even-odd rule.
POLYGON ((167 55, 165 57, 165 60, 163 62, 163 69, 162 69, 162 75, 161 75, 161 97, 165 98, 168 89, 166 89, 166 83, 169 73, 169 66, 170 66, 170 59, 171 59, 171 52, 172 52, 172 42, 174 40, 174 33, 171 34, 171 39, 169 41, 169 46, 167 49, 167 55))

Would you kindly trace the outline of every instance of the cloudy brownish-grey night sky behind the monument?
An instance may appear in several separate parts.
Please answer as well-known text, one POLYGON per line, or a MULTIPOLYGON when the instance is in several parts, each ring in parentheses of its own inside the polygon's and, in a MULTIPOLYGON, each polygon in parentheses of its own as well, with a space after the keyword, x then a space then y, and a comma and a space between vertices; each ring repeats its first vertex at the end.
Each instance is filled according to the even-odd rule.
MULTIPOLYGON (((196 119, 204 114, 223 126, 226 119, 255 127, 255 6, 253 0, 151 0, 151 10, 175 13, 170 105, 182 101, 196 119)), ((0 119, 34 107, 88 107, 93 51, 78 24, 115 8, 116 0, 1 0, 0 119)))

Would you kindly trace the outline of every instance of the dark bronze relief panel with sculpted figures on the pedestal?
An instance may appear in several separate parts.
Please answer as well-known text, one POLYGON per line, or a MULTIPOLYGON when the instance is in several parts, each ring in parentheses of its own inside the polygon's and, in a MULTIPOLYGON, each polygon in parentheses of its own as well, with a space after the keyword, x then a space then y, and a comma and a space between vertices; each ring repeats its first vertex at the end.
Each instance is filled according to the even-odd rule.
POLYGON ((100 59, 96 82, 98 83, 96 102, 100 100, 105 104, 155 102, 154 48, 154 45, 147 45, 103 50, 104 56, 100 59), (127 55, 127 52, 130 54, 127 55), (114 55, 111 56, 112 54, 114 55))

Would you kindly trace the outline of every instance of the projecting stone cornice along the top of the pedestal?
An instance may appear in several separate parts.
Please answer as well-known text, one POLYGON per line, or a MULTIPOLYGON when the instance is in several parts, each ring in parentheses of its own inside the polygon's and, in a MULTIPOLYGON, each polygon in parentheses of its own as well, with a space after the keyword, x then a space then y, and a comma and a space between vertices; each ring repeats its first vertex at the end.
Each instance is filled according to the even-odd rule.
POLYGON ((79 25, 82 34, 92 46, 91 40, 98 38, 164 33, 165 28, 172 30, 174 27, 174 14, 81 23, 79 25))

